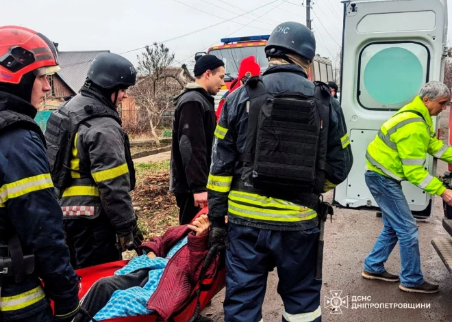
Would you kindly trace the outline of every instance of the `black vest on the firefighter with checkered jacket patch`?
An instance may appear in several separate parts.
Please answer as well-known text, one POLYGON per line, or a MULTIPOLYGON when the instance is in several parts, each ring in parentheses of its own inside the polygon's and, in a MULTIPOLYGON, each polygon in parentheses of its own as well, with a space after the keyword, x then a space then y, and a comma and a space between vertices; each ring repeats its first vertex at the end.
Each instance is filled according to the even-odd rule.
MULTIPOLYGON (((71 185, 71 159, 72 144, 75 135, 82 122, 92 118, 108 117, 113 118, 121 125, 121 118, 118 113, 109 107, 99 103, 91 103, 83 109, 73 111, 66 107, 70 100, 62 103, 56 111, 51 113, 47 121, 45 139, 47 141, 47 158, 49 159, 50 173, 53 185, 62 191, 71 185)), ((129 167, 130 187, 135 188, 136 178, 134 163, 130 154, 129 137, 124 133, 125 139, 125 158, 129 167)))

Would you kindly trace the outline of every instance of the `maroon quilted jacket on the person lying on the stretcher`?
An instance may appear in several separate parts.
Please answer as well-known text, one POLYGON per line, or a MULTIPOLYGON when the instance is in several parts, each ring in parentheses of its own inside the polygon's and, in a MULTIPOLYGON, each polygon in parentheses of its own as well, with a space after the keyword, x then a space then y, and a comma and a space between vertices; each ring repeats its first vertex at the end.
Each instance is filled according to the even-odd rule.
MULTIPOLYGON (((208 254, 209 234, 195 236, 186 225, 169 228, 163 236, 154 237, 149 243, 140 246, 140 250, 153 252, 165 257, 177 241, 188 235, 188 243, 181 247, 163 272, 157 289, 149 299, 147 308, 154 310, 164 321, 168 320, 189 299, 194 286, 199 282, 205 256, 208 254)), ((219 265, 220 256, 212 261, 206 278, 213 278, 219 265)))

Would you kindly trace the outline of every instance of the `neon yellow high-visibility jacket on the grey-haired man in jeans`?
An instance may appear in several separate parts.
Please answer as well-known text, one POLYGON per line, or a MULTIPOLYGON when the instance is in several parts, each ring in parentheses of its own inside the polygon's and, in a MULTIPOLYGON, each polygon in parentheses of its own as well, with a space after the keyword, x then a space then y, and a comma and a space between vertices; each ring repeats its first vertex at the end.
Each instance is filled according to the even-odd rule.
POLYGON ((452 149, 436 138, 434 124, 419 96, 381 126, 366 152, 366 167, 397 181, 408 180, 431 194, 446 189, 425 167, 427 155, 452 162, 452 149), (417 111, 418 114, 410 112, 417 111))

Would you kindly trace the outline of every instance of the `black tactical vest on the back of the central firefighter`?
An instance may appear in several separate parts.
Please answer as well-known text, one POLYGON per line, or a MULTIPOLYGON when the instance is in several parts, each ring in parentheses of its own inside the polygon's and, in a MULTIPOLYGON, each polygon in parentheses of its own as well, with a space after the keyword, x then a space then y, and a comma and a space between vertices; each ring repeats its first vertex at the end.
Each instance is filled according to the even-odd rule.
POLYGON ((260 77, 247 81, 249 119, 245 151, 240 155, 241 181, 251 183, 255 192, 316 208, 327 172, 331 98, 325 86, 316 83, 313 96, 273 94, 260 77))

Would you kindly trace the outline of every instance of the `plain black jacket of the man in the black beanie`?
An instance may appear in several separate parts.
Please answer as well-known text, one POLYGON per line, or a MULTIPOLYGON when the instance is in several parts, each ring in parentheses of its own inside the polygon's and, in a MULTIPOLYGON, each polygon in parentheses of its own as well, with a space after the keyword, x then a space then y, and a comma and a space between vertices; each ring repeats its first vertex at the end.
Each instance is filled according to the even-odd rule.
POLYGON ((207 191, 216 116, 214 97, 196 83, 176 96, 171 144, 170 191, 207 191))

